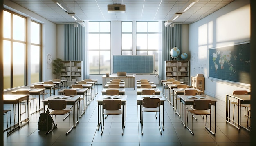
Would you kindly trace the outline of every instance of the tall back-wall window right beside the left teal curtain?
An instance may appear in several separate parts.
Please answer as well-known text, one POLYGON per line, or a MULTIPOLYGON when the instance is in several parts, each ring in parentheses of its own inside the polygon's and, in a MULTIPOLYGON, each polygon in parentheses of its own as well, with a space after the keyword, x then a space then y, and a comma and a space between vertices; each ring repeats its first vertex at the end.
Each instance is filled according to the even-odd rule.
POLYGON ((89 22, 88 32, 89 73, 110 73, 111 23, 89 22))

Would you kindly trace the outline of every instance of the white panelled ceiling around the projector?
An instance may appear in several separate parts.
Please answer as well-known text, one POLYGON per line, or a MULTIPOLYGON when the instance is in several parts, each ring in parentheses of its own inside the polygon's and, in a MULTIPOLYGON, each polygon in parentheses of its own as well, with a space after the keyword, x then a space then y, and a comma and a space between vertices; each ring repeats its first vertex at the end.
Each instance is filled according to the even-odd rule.
MULTIPOLYGON (((56 24, 75 20, 52 0, 11 0, 56 24)), ((189 0, 62 0, 81 20, 169 20, 189 0), (108 4, 125 4, 126 13, 108 13, 108 4)), ((199 0, 173 24, 191 24, 234 0, 199 0)))

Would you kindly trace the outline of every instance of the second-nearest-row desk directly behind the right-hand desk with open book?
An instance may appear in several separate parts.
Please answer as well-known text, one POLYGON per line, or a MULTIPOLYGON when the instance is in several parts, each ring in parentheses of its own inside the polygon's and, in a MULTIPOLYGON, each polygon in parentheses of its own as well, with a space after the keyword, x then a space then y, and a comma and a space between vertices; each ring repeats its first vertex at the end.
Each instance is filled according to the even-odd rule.
MULTIPOLYGON (((199 89, 194 89, 194 88, 173 88, 173 108, 175 109, 175 113, 180 117, 180 111, 177 111, 177 95, 184 95, 185 90, 197 90, 198 95, 202 95, 203 91, 199 89)), ((180 109, 179 109, 180 110, 180 109)))

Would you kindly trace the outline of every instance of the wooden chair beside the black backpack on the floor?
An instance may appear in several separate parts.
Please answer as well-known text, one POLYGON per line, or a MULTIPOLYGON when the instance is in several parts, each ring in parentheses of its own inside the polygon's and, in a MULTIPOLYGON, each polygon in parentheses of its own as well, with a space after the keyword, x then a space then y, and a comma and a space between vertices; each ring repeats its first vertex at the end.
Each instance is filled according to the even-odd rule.
MULTIPOLYGON (((52 110, 48 115, 55 115, 55 124, 57 127, 57 120, 56 120, 56 115, 67 115, 70 118, 70 111, 71 110, 65 110, 67 108, 67 103, 66 100, 48 100, 48 109, 52 110)), ((52 118, 53 119, 53 118, 52 118)), ((48 121, 48 116, 47 116, 47 121, 48 121)), ((70 125, 70 120, 69 120, 69 125, 70 125)), ((74 125, 74 123, 73 123, 74 125)), ((45 133, 46 135, 49 134, 51 131, 54 130, 54 126, 52 127, 51 130, 47 131, 45 133)), ((48 122, 47 122, 47 129, 48 129, 48 122)), ((66 135, 71 131, 71 128, 69 126, 69 131, 67 131, 66 135)))

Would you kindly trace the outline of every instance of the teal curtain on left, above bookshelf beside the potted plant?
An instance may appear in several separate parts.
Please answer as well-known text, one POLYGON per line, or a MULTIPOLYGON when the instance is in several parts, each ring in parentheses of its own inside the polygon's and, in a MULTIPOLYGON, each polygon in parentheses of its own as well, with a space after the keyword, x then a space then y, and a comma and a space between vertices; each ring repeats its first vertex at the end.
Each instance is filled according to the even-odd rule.
POLYGON ((85 27, 73 24, 65 24, 64 60, 83 61, 83 79, 89 77, 86 72, 87 61, 85 60, 85 27))

